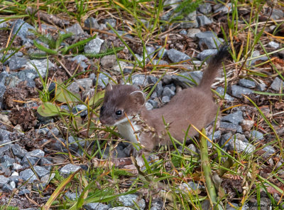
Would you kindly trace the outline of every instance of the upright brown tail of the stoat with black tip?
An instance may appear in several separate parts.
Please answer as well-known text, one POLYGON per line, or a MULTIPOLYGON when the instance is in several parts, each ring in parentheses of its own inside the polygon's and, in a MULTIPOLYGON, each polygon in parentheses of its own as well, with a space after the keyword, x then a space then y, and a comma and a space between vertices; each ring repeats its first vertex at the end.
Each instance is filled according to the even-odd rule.
POLYGON ((209 59, 209 64, 204 70, 200 84, 198 85, 203 90, 210 90, 214 79, 219 74, 219 68, 222 67, 222 61, 230 56, 229 46, 222 46, 215 56, 209 59))

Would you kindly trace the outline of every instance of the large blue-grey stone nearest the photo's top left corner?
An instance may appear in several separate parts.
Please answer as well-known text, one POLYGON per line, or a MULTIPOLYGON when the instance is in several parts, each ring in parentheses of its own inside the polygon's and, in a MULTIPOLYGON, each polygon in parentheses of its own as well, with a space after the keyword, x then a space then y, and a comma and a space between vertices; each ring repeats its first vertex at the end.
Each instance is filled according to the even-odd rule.
POLYGON ((16 20, 16 22, 14 22, 14 25, 11 24, 11 27, 13 27, 12 31, 13 35, 15 35, 18 31, 17 36, 21 37, 24 45, 26 43, 33 43, 33 41, 31 41, 31 39, 28 38, 28 36, 34 35, 32 31, 35 31, 35 28, 33 26, 31 26, 30 24, 26 23, 21 19, 18 19, 16 20))

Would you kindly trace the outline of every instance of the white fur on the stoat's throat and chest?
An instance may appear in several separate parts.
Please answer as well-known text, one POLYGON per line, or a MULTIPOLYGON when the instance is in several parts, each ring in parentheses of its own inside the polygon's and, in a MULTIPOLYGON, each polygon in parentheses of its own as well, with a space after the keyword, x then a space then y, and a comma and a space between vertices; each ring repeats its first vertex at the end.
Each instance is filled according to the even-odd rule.
POLYGON ((133 126, 133 128, 132 128, 129 122, 124 122, 124 123, 121 123, 121 124, 116 125, 116 126, 119 129, 119 134, 122 137, 124 137, 126 140, 129 140, 133 143, 138 143, 136 136, 138 137, 138 140, 139 140, 139 135, 134 134, 133 128, 134 128, 135 131, 137 131, 137 130, 140 130, 140 128, 141 128, 140 126, 132 124, 132 126, 133 126))

